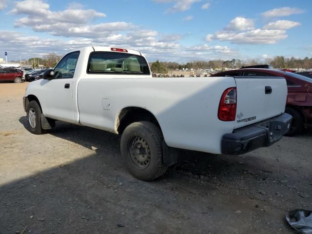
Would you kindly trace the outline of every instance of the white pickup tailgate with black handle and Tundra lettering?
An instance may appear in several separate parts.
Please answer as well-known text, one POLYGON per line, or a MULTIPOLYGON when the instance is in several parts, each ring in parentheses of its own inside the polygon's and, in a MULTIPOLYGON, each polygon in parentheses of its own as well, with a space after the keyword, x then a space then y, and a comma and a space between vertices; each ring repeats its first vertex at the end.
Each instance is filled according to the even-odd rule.
POLYGON ((234 77, 234 79, 237 90, 235 129, 284 113, 287 99, 285 78, 234 77))

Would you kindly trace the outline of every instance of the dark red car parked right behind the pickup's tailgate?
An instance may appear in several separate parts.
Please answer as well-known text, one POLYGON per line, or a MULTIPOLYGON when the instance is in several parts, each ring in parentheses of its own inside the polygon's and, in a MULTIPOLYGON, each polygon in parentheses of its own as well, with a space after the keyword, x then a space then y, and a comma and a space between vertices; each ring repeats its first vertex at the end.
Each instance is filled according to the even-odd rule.
POLYGON ((312 78, 281 70, 260 68, 243 68, 220 72, 212 75, 211 77, 225 76, 284 77, 288 87, 285 112, 292 115, 292 127, 286 136, 299 134, 304 128, 312 124, 312 78))

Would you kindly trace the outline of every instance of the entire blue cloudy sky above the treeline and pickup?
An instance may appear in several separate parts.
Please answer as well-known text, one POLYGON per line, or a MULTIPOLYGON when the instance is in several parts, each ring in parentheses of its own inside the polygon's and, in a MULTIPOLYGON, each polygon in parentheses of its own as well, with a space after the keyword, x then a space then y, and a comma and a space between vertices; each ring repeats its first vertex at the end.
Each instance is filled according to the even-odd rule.
POLYGON ((312 57, 312 0, 0 0, 0 58, 84 46, 148 61, 312 57))

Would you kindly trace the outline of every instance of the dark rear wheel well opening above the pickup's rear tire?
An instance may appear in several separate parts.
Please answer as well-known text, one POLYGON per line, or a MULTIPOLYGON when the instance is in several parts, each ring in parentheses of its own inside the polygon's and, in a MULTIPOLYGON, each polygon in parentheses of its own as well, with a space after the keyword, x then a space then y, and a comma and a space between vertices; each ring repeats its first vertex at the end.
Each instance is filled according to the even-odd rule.
POLYGON ((126 107, 122 109, 117 117, 116 130, 122 134, 125 128, 131 123, 138 121, 149 121, 154 123, 161 131, 156 117, 148 110, 140 107, 126 107))

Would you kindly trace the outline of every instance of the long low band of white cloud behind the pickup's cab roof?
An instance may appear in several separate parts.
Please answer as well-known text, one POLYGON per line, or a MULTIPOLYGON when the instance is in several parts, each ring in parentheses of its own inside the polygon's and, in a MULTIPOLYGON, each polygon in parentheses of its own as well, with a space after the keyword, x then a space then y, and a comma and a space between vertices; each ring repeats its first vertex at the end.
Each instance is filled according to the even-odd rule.
MULTIPOLYGON (((131 48, 144 53, 149 61, 160 59, 163 61, 187 62, 191 60, 209 59, 231 59, 237 58, 237 51, 227 46, 197 45, 194 47, 183 47, 178 41, 160 41, 157 39, 159 33, 151 30, 138 30, 123 34, 114 34, 103 38, 83 39, 42 39, 29 37, 18 32, 0 31, 0 44, 8 50, 10 59, 29 58, 32 56, 44 56, 54 52, 64 55, 68 51, 84 46, 112 46, 131 48), (141 33, 143 35, 141 35, 141 33), (154 36, 153 36, 154 35, 154 36), (148 37, 144 38, 145 36, 148 37), (12 46, 14 45, 14 46, 12 46)), ((161 35, 170 37, 170 35, 161 35)))

